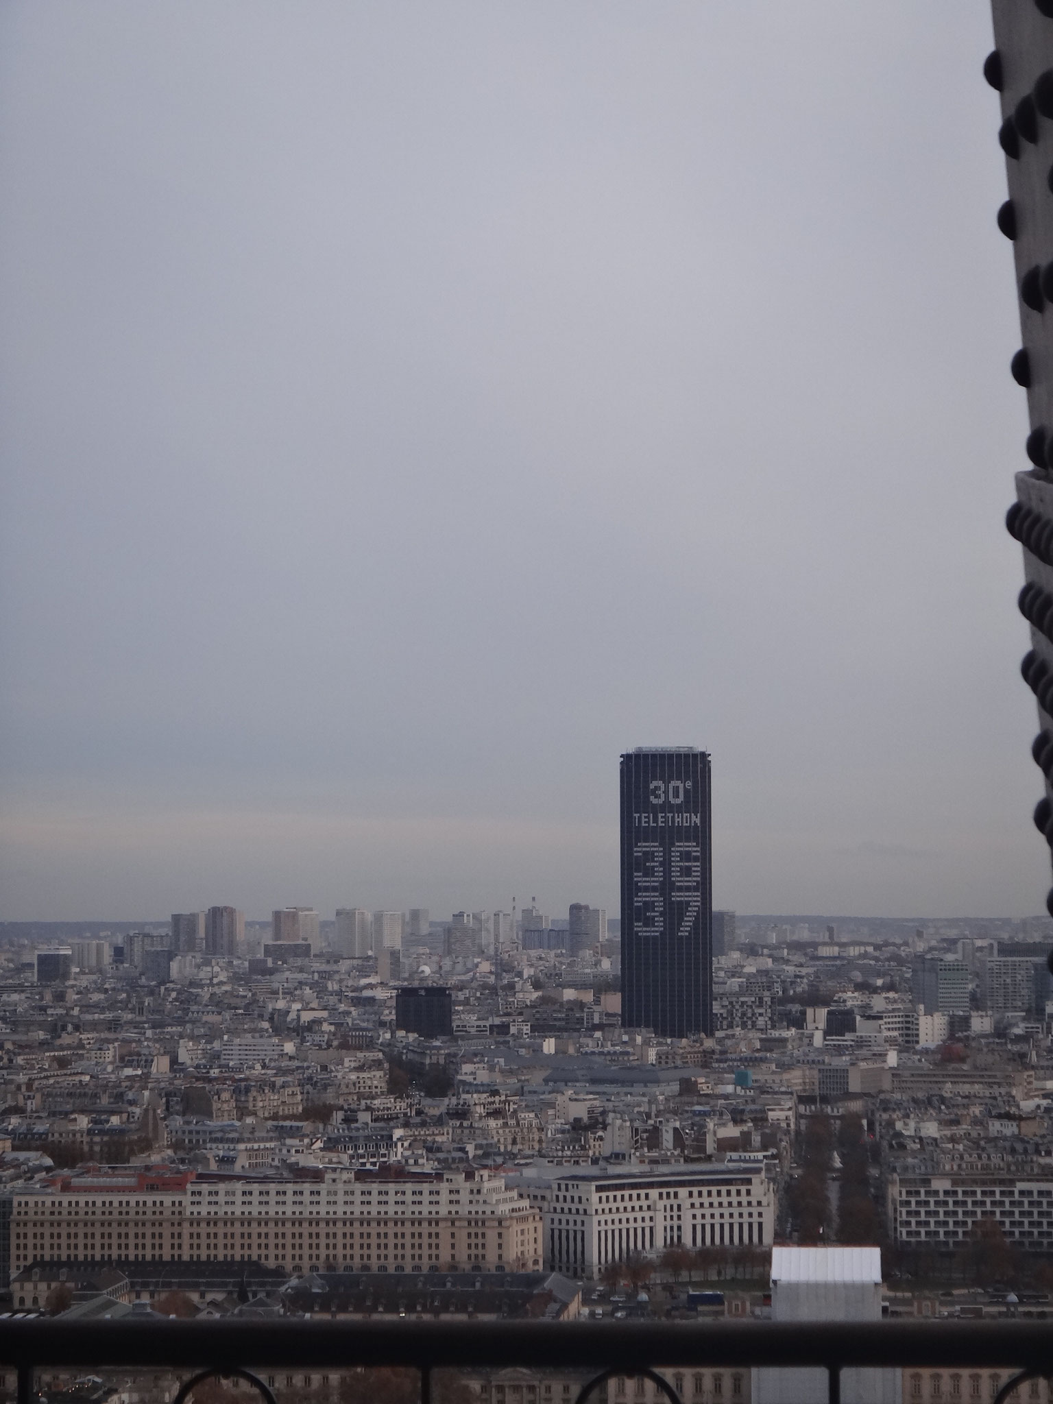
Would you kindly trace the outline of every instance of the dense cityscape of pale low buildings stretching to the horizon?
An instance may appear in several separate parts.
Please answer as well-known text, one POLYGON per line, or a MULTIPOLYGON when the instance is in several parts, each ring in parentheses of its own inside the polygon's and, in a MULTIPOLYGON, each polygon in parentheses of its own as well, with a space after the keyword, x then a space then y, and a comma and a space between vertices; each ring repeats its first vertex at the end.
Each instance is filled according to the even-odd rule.
POLYGON ((886 1317, 1045 1316, 1050 927, 715 911, 677 1038, 587 903, 7 924, 10 1310, 762 1318, 861 1244, 886 1317))

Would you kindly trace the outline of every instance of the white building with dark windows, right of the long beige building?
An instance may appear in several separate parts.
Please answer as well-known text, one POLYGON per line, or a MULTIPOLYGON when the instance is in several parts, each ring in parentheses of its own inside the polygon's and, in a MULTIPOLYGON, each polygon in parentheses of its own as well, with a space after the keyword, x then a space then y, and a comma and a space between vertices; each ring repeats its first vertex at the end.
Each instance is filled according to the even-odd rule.
POLYGON ((758 1164, 580 1171, 528 1191, 545 1217, 545 1266, 595 1278, 664 1248, 768 1247, 775 1192, 758 1164))

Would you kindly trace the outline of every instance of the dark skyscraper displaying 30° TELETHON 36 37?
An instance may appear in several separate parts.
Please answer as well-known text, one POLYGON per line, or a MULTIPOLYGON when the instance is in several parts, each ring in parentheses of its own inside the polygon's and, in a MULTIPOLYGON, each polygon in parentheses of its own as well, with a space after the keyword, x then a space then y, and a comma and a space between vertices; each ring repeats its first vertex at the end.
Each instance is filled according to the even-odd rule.
POLYGON ((667 1038, 712 1032, 709 755, 691 746, 622 757, 622 1024, 667 1038))

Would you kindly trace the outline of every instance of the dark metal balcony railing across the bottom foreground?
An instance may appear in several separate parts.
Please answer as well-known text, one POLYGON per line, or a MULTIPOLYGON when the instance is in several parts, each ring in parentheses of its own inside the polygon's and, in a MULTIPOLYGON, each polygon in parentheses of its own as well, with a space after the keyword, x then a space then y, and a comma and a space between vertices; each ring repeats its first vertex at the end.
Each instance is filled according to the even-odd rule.
MULTIPOLYGON (((249 1377, 272 1404, 253 1369, 411 1367, 421 1404, 431 1404, 437 1369, 594 1372, 580 1404, 611 1376, 647 1375, 671 1404, 673 1367, 802 1367, 827 1370, 828 1404, 841 1401, 844 1369, 987 1369, 1016 1372, 998 1390, 1004 1404, 1025 1379, 1053 1376, 1053 1331, 1043 1323, 438 1323, 438 1321, 108 1321, 49 1318, 0 1323, 0 1362, 17 1370, 17 1404, 32 1404, 39 1367, 159 1367, 249 1377)), ((180 1404, 188 1393, 178 1391, 180 1404)))

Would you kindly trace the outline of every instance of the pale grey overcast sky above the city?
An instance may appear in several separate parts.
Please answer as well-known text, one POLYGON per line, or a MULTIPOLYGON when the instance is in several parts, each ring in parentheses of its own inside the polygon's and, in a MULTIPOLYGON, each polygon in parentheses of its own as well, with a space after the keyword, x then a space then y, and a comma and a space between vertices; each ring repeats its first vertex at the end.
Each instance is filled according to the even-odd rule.
POLYGON ((1038 913, 986 0, 7 0, 0 917, 1038 913))

